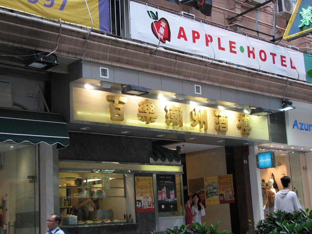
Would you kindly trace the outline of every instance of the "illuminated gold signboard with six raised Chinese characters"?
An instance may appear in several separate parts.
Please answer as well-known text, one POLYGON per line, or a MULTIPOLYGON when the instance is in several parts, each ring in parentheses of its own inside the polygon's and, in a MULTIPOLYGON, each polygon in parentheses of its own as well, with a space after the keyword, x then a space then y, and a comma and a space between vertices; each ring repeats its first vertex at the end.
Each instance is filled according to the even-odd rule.
POLYGON ((269 140, 266 116, 73 87, 71 122, 269 140))

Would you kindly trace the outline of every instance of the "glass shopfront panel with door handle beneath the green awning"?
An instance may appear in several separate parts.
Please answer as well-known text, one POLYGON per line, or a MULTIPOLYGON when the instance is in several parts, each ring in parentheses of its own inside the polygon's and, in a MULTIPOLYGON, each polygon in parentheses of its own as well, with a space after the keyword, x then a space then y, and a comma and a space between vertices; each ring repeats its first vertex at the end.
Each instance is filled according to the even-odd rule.
POLYGON ((39 233, 36 148, 28 144, 0 144, 0 191, 7 194, 3 215, 7 234, 39 233))

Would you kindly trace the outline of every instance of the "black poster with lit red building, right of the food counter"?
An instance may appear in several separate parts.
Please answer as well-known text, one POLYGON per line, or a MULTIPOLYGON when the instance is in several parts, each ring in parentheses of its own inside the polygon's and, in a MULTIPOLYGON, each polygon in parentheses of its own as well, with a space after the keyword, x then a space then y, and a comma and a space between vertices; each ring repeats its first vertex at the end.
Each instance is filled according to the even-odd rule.
POLYGON ((158 212, 178 211, 175 175, 156 175, 158 212))

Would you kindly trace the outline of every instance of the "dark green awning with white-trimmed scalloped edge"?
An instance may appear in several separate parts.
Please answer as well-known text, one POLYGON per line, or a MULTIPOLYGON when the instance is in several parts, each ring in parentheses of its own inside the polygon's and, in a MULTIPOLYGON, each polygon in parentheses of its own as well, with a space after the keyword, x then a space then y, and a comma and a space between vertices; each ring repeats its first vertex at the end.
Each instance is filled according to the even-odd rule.
POLYGON ((64 148, 69 144, 67 124, 59 114, 0 108, 0 142, 5 141, 64 148))

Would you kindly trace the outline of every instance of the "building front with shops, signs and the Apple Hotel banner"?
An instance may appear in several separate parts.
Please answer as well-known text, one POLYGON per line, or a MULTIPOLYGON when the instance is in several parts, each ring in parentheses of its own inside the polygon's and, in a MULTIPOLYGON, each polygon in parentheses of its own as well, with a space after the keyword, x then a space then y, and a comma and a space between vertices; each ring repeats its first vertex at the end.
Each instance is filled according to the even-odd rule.
POLYGON ((311 36, 275 40, 291 9, 222 0, 205 16, 164 0, 74 2, 0 1, 0 116, 14 119, 2 122, 4 233, 45 233, 51 213, 70 222, 81 192, 98 216, 63 220, 66 233, 162 232, 184 222, 183 194, 194 192, 204 222, 246 233, 270 212, 271 173, 291 175, 311 208, 311 36), (282 100, 296 107, 285 117, 282 100), (281 165, 259 169, 256 155, 272 150, 281 165))

